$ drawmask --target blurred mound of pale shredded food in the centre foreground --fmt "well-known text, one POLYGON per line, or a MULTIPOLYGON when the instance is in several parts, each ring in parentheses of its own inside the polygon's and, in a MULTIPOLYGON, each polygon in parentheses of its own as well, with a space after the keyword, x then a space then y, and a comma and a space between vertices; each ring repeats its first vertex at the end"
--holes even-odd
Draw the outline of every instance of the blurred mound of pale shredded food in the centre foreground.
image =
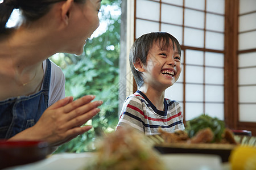
POLYGON ((105 135, 99 141, 96 159, 85 169, 164 170, 166 168, 146 136, 126 127, 105 135))

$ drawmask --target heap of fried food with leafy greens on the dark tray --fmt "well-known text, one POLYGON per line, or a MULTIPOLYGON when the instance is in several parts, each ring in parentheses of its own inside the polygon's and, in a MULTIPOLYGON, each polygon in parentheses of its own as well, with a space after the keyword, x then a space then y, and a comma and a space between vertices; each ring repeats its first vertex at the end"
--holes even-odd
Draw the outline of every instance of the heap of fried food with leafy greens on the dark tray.
POLYGON ((233 131, 225 128, 224 121, 208 115, 200 115, 187 121, 185 130, 168 133, 159 128, 165 143, 227 143, 237 144, 233 131))

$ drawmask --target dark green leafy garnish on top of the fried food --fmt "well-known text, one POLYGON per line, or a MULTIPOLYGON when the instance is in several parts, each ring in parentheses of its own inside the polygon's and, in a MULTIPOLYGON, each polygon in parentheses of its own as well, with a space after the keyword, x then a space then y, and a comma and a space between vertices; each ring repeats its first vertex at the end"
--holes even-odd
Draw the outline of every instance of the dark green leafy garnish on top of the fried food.
POLYGON ((216 117, 201 114, 201 116, 187 121, 187 126, 185 129, 189 138, 192 138, 194 135, 196 135, 197 131, 205 128, 210 128, 213 131, 214 138, 212 142, 216 142, 221 140, 221 135, 225 129, 225 124, 224 121, 218 120, 216 117))

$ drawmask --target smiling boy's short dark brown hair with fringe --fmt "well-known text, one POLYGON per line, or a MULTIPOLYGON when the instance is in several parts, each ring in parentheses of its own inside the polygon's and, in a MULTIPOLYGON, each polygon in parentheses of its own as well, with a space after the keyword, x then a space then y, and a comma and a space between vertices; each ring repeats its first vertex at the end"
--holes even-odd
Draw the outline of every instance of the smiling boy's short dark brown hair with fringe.
POLYGON ((170 47, 175 49, 176 46, 177 51, 181 56, 179 41, 177 41, 174 36, 170 35, 170 33, 151 32, 139 37, 137 40, 135 40, 133 46, 131 46, 129 54, 131 72, 133 73, 134 79, 138 87, 141 87, 143 85, 144 80, 142 73, 134 68, 134 63, 139 60, 142 62, 143 65, 146 65, 147 54, 154 45, 154 43, 156 43, 156 45, 158 45, 162 50, 168 49, 170 47))

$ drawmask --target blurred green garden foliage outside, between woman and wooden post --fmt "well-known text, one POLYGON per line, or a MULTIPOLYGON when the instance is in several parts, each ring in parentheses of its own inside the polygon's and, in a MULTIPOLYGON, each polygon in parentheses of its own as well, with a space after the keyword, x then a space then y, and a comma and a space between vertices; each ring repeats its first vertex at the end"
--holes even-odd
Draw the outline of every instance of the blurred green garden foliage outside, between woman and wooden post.
POLYGON ((53 62, 63 68, 66 77, 66 96, 75 99, 84 95, 95 95, 95 100, 102 100, 100 113, 86 125, 93 129, 61 145, 59 152, 85 152, 94 149, 93 141, 102 133, 115 129, 118 122, 118 58, 120 50, 120 18, 104 12, 109 5, 121 11, 120 1, 102 1, 102 20, 108 23, 106 32, 86 42, 81 56, 56 54, 53 62))

